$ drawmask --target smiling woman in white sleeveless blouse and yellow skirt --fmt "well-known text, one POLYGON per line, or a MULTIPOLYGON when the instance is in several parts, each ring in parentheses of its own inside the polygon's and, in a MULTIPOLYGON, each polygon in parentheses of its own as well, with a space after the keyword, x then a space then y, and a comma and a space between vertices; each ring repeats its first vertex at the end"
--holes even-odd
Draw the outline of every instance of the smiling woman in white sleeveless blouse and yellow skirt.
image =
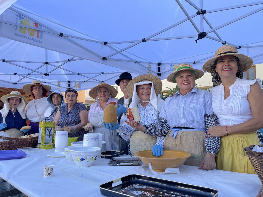
POLYGON ((253 64, 250 57, 238 54, 234 46, 222 46, 215 57, 203 65, 214 82, 213 111, 218 126, 208 128, 208 136, 221 137, 217 169, 255 174, 244 147, 260 144, 263 127, 263 92, 261 81, 244 80, 243 72, 253 64))

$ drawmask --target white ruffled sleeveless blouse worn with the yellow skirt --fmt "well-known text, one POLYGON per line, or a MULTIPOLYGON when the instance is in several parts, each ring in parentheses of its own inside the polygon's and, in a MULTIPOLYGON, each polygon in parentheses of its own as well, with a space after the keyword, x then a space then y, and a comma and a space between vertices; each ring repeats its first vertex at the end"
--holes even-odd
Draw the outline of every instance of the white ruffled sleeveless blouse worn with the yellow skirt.
POLYGON ((250 86, 259 83, 260 79, 245 80, 236 78, 230 89, 230 95, 225 100, 224 86, 222 84, 212 87, 210 92, 213 95, 213 111, 218 117, 219 125, 237 125, 252 118, 247 94, 250 92, 250 86))

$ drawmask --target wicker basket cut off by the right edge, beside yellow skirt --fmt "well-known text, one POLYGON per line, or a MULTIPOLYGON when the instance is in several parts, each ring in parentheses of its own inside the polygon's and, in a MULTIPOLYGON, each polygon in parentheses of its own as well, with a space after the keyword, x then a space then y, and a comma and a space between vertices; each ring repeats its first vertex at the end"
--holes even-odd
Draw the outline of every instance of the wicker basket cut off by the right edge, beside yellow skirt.
MULTIPOLYGON (((255 145, 251 145, 249 147, 245 147, 244 151, 246 152, 248 158, 250 159, 259 180, 263 186, 263 152, 259 153, 256 151, 252 151, 255 145)), ((259 147, 263 147, 263 145, 258 145, 259 147)))

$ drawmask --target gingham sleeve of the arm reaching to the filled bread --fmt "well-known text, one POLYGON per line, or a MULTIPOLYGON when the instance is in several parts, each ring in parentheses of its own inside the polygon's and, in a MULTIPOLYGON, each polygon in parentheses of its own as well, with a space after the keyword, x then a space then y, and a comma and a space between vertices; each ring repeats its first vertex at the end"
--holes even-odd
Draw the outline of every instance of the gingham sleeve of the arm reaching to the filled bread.
POLYGON ((157 123, 152 123, 150 125, 144 125, 145 133, 149 134, 150 136, 154 137, 161 137, 165 136, 169 130, 170 126, 166 119, 159 117, 159 121, 157 123))

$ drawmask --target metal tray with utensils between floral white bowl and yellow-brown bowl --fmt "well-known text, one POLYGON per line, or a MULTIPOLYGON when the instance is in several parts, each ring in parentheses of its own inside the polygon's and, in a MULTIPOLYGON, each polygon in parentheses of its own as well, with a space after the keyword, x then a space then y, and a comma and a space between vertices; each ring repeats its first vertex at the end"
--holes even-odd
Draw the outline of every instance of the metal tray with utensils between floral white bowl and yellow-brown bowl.
POLYGON ((142 165, 138 157, 113 157, 109 160, 110 165, 142 165))

